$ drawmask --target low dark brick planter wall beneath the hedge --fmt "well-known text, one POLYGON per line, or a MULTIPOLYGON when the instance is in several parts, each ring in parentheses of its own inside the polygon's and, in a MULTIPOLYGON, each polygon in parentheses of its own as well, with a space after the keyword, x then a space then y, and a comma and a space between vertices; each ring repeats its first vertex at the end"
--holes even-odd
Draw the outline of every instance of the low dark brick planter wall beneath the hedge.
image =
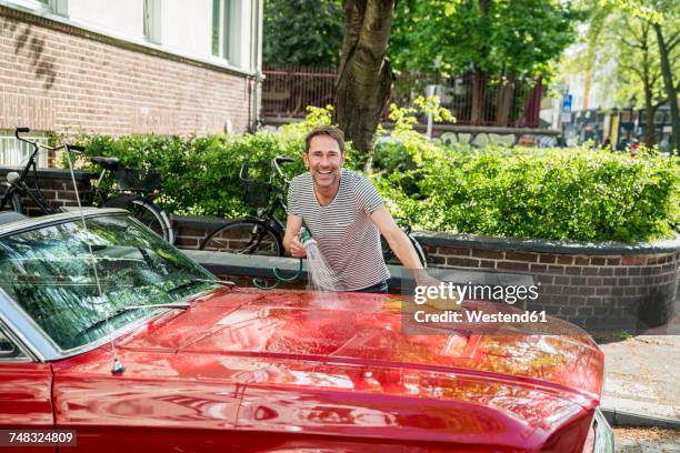
MULTIPOLYGON (((220 223, 177 218, 177 245, 197 249, 220 223)), ((528 310, 546 310, 593 333, 663 324, 680 290, 680 240, 627 245, 420 232, 417 236, 431 268, 532 275, 539 298, 528 303, 528 310)))

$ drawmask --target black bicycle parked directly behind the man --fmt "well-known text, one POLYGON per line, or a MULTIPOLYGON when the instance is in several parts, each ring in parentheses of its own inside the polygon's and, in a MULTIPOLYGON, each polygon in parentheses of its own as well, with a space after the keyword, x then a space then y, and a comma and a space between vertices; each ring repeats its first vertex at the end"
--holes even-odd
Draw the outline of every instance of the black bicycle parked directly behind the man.
MULTIPOLYGON (((273 158, 271 162, 257 162, 258 165, 269 167, 268 181, 249 178, 251 164, 241 165, 239 179, 243 184, 243 198, 247 204, 257 209, 257 215, 236 219, 218 226, 201 242, 200 250, 283 256, 286 251, 282 238, 286 233, 286 223, 279 219, 277 212, 286 212, 284 198, 290 180, 281 170, 281 164, 288 162, 293 162, 293 159, 281 155, 273 158)), ((408 223, 404 223, 404 219, 398 220, 401 222, 400 226, 406 228, 407 238, 413 244, 421 264, 427 268, 426 253, 410 234, 410 222, 407 220, 408 223)), ((384 238, 381 236, 380 240, 386 263, 398 263, 384 238)))

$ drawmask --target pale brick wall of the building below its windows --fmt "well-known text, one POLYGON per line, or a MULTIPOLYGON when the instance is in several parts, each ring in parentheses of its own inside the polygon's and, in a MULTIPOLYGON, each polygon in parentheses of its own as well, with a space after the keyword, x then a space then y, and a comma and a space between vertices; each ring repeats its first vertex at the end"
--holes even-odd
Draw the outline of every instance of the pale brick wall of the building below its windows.
POLYGON ((238 72, 0 7, 0 129, 207 134, 249 124, 238 72))

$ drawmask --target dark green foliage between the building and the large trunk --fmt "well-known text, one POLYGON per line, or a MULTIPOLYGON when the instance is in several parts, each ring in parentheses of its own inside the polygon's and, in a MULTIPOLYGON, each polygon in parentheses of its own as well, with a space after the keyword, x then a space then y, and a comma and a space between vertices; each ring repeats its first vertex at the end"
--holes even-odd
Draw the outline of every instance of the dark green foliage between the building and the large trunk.
POLYGON ((334 68, 341 43, 339 0, 266 0, 266 63, 334 68))

